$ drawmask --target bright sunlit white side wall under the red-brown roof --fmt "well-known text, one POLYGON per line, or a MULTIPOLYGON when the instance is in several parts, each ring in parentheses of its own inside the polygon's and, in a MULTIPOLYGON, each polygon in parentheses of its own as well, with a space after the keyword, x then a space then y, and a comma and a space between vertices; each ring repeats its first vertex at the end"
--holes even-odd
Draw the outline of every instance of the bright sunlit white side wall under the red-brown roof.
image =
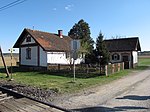
POLYGON ((49 64, 69 64, 65 52, 47 52, 47 63, 49 64))

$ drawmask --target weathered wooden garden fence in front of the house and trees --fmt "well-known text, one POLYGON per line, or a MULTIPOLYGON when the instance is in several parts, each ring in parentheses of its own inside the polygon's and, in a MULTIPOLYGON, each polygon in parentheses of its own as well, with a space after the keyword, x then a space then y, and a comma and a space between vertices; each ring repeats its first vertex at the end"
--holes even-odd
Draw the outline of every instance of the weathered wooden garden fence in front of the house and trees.
MULTIPOLYGON (((63 71, 71 73, 73 70, 73 65, 60 65, 60 64, 49 64, 47 69, 52 72, 63 71)), ((114 63, 106 66, 99 66, 97 64, 79 64, 76 65, 77 74, 100 74, 100 75, 110 75, 116 72, 124 70, 124 63, 114 63), (100 69, 101 67, 101 69, 100 69), (101 71, 100 71, 101 70, 101 71)))

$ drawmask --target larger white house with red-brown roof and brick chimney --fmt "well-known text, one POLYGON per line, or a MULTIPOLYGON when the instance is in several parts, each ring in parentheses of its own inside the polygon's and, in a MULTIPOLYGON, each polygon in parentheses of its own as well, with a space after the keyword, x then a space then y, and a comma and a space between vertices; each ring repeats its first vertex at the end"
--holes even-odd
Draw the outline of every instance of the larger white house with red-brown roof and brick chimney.
MULTIPOLYGON (((24 29, 14 48, 19 48, 20 66, 47 67, 48 64, 71 63, 71 41, 69 36, 24 29)), ((77 43, 78 44, 78 43, 77 43)), ((84 59, 78 58, 79 64, 84 59)))

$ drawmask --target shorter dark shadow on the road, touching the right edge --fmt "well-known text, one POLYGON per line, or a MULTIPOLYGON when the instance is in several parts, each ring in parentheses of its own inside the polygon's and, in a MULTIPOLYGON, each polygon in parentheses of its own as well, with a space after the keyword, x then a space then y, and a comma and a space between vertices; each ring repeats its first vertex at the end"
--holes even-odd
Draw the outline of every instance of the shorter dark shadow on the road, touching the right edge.
POLYGON ((123 96, 123 97, 116 98, 116 99, 148 100, 148 99, 150 99, 150 96, 128 95, 128 96, 123 96))

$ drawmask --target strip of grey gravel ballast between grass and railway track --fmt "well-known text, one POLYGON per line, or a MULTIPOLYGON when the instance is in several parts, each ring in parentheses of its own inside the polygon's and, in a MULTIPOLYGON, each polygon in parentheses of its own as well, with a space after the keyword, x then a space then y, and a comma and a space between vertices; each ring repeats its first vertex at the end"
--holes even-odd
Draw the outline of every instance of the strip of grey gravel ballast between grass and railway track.
POLYGON ((57 96, 54 90, 18 84, 15 81, 1 80, 0 86, 44 102, 51 102, 57 96))

